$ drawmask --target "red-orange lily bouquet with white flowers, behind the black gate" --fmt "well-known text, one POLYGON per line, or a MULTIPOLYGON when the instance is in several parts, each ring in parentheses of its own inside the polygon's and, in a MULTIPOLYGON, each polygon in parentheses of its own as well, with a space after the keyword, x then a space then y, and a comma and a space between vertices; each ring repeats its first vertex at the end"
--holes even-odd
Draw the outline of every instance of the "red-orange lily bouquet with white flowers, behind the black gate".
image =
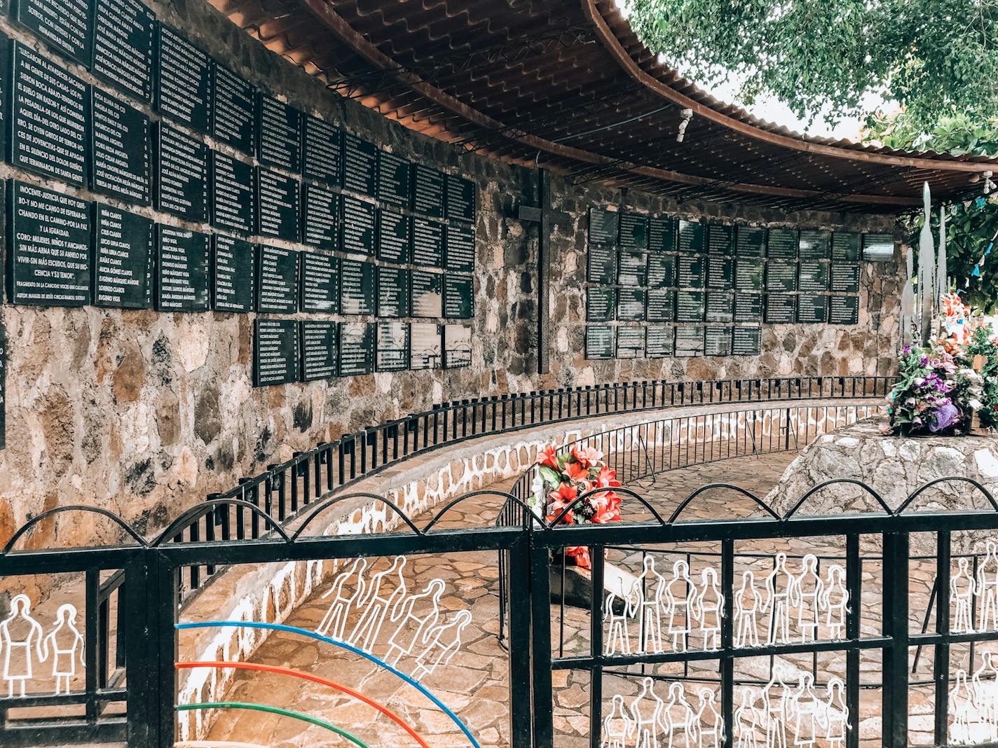
MULTIPOLYGON (((617 471, 606 466, 599 450, 576 445, 559 454, 552 444, 542 449, 537 457, 533 508, 549 523, 557 520, 559 525, 617 522, 621 519, 621 498, 613 489, 620 485, 617 471), (589 492, 594 493, 576 502, 589 492), (565 512, 569 507, 571 509, 565 512)), ((582 568, 592 567, 586 548, 569 547, 565 555, 582 568)))

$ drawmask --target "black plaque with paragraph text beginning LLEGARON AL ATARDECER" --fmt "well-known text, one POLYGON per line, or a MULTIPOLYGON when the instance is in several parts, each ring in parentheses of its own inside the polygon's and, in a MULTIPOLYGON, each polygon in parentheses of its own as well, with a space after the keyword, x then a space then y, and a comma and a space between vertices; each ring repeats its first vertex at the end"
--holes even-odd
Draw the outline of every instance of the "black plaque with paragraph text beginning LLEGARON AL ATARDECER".
POLYGON ((86 84, 20 42, 14 43, 12 82, 11 165, 83 186, 86 84))

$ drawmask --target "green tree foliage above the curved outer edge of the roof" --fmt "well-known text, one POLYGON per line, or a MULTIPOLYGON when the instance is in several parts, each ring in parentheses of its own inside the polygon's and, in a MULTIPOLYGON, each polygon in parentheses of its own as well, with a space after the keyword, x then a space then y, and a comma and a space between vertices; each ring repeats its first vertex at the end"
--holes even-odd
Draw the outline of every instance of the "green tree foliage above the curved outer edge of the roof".
POLYGON ((897 101, 926 130, 940 113, 998 104, 998 0, 629 0, 632 26, 684 75, 742 82, 800 119, 897 101))

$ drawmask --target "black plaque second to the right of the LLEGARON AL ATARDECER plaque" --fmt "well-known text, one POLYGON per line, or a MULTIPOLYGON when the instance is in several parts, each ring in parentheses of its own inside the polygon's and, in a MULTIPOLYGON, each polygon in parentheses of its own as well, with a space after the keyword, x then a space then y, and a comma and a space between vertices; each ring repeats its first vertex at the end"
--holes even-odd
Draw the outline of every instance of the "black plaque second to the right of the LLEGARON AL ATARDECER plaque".
POLYGON ((208 217, 208 147, 166 123, 156 128, 156 207, 201 223, 208 217))

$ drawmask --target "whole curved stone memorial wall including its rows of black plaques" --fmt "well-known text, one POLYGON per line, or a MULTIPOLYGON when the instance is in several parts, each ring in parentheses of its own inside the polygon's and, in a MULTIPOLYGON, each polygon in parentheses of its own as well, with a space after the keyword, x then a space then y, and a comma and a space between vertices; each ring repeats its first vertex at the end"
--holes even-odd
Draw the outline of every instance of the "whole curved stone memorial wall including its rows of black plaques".
MULTIPOLYGON (((727 294, 728 314, 734 293, 738 313, 739 292, 758 291, 740 283, 768 290, 768 274, 740 270, 740 233, 734 256, 715 256, 670 248, 684 234, 661 226, 668 214, 883 233, 890 218, 843 226, 555 177, 565 217, 549 237, 552 371, 539 376, 537 227, 516 217, 537 202, 533 170, 337 96, 204 0, 0 7, 0 540, 73 503, 152 530, 295 450, 434 402, 886 365, 873 339, 896 327, 893 260, 852 262, 856 302, 829 302, 822 323, 726 317, 724 340, 711 294, 727 294), (702 324, 680 325, 701 306, 702 324)), ((794 279, 834 282, 834 254, 815 261, 794 279)), ((90 532, 75 523, 32 543, 90 532)))

